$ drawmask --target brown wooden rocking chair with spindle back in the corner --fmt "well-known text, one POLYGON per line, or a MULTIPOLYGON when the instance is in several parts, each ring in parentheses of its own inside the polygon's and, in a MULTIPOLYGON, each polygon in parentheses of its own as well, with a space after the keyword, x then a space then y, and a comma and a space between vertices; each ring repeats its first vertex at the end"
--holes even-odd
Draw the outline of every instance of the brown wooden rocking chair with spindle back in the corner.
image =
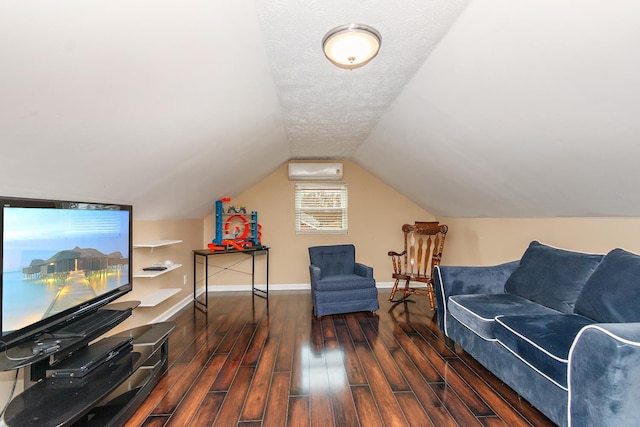
POLYGON ((393 262, 393 278, 396 279, 389 301, 403 301, 411 295, 428 296, 431 309, 435 309, 433 269, 440 265, 447 230, 446 225, 440 225, 437 221, 402 226, 404 251, 389 251, 388 254, 393 262), (401 281, 404 282, 404 289, 400 289, 400 292, 403 292, 404 296, 394 300, 401 281), (412 283, 414 286, 411 286, 412 283), (415 287, 418 284, 422 286, 415 287))

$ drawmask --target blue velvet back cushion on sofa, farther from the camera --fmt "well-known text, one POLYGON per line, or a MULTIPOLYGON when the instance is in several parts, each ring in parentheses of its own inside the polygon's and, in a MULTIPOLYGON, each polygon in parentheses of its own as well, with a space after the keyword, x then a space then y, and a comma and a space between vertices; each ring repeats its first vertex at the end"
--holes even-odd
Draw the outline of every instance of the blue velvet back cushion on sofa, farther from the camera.
POLYGON ((533 241, 507 279, 505 291, 563 313, 573 313, 582 287, 602 257, 533 241))

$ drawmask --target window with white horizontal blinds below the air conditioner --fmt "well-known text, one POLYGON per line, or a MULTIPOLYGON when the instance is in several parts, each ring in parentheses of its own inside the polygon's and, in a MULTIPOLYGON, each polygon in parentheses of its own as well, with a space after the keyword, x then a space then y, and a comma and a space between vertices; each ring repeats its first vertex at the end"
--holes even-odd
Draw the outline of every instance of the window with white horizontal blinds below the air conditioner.
POLYGON ((295 194, 296 233, 347 233, 347 184, 297 183, 295 194))

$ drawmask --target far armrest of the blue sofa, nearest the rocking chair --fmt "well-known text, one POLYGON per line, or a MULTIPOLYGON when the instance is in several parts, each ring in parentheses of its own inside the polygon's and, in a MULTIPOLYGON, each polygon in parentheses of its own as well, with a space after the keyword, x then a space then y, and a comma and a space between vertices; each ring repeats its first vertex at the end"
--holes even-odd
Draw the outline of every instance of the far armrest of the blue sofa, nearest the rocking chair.
POLYGON ((452 295, 502 294, 504 284, 520 264, 520 260, 504 264, 466 267, 436 266, 433 272, 434 288, 438 306, 438 325, 444 331, 447 315, 447 300, 452 295))

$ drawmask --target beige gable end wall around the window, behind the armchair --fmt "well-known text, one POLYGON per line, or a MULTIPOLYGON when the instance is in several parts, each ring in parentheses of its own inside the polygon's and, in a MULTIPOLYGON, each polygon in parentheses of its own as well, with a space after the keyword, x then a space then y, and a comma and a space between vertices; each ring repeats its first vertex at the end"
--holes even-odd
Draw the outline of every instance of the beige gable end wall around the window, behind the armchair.
MULTIPOLYGON (((353 243, 359 262, 374 268, 379 282, 390 282, 391 263, 387 252, 402 249, 404 223, 431 221, 433 215, 350 161, 344 164, 343 182, 348 185, 349 233, 346 235, 299 235, 295 233, 294 182, 289 181, 287 164, 231 200, 248 211, 258 212, 262 225, 262 242, 271 248, 270 283, 308 284, 309 254, 314 245, 353 243)), ((213 203, 213 202, 212 202, 213 203)), ((214 237, 214 216, 205 218, 203 246, 214 237)), ((221 256, 218 263, 223 261, 221 256)), ((257 258, 259 260, 259 258, 257 258)), ((256 267, 263 271, 263 260, 256 267)), ((258 276, 256 276, 257 280, 258 276)), ((211 283, 246 283, 242 275, 220 273, 211 283), (240 281, 240 282, 239 282, 240 281)))

